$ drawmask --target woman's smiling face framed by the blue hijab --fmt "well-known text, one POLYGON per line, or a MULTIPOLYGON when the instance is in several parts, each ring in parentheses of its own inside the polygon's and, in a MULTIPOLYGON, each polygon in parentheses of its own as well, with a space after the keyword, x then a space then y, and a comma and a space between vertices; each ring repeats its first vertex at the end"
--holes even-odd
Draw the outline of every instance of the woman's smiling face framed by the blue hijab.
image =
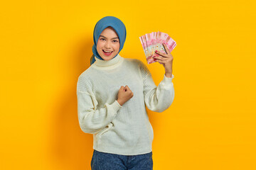
POLYGON ((105 28, 97 40, 97 52, 103 60, 111 60, 119 52, 120 44, 117 33, 112 27, 105 28))

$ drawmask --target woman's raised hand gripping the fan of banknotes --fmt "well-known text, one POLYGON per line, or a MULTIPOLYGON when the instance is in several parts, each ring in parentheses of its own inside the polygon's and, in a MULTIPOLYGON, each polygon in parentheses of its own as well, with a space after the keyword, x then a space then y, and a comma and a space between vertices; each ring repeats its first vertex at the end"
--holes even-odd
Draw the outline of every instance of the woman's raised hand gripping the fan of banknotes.
POLYGON ((172 74, 172 64, 174 61, 174 57, 171 55, 171 52, 168 50, 168 47, 164 45, 164 49, 166 50, 167 54, 164 54, 163 52, 155 51, 156 54, 160 55, 159 57, 154 57, 156 59, 156 62, 159 62, 164 66, 164 69, 166 71, 166 74, 171 75, 172 74))

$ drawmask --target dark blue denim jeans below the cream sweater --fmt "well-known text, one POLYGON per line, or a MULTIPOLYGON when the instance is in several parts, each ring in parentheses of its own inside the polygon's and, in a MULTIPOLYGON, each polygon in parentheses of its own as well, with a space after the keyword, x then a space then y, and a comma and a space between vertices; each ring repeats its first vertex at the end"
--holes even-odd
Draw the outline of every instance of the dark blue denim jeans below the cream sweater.
POLYGON ((92 170, 153 170, 152 152, 138 155, 121 155, 99 152, 94 149, 92 170))

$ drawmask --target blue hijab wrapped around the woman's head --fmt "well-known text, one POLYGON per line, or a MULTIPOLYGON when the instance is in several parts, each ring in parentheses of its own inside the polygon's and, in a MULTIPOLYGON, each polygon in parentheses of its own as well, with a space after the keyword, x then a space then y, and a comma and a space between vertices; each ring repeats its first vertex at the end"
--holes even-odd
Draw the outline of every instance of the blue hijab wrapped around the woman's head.
MULTIPOLYGON (((102 59, 102 57, 100 57, 99 53, 97 52, 97 40, 100 37, 100 33, 102 33, 102 31, 105 30, 105 28, 107 28, 109 26, 114 28, 114 30, 117 32, 117 35, 119 38, 119 43, 120 43, 119 52, 124 47, 124 42, 125 42, 126 35, 127 35, 124 23, 121 20, 119 20, 119 18, 116 18, 114 16, 105 16, 104 18, 101 18, 100 21, 97 21, 95 28, 93 30, 94 45, 92 45, 93 55, 90 58, 91 65, 95 62, 95 57, 97 57, 100 60, 104 60, 104 59, 102 59)), ((119 52, 117 53, 117 55, 119 54, 119 52)), ((114 57, 117 57, 117 55, 114 57)))

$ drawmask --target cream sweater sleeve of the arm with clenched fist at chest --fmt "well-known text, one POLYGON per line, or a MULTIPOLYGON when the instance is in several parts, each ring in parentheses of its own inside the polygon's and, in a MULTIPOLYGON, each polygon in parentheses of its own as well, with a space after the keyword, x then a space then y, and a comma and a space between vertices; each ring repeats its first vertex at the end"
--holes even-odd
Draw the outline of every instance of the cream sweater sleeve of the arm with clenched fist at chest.
POLYGON ((105 103, 104 108, 97 108, 95 95, 86 86, 82 79, 78 79, 78 120, 83 132, 95 134, 112 122, 122 106, 115 100, 113 103, 105 103))

